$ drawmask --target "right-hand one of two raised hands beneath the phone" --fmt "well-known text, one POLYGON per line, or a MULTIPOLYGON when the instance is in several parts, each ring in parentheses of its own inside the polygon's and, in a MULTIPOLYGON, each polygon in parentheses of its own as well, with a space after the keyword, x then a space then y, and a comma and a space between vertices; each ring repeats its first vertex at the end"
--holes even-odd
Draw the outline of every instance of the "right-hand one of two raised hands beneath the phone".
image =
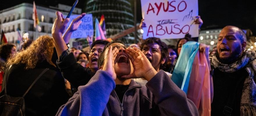
POLYGON ((79 25, 82 23, 81 19, 85 16, 86 13, 80 14, 77 18, 72 20, 70 26, 67 28, 68 31, 73 32, 78 29, 79 25))

